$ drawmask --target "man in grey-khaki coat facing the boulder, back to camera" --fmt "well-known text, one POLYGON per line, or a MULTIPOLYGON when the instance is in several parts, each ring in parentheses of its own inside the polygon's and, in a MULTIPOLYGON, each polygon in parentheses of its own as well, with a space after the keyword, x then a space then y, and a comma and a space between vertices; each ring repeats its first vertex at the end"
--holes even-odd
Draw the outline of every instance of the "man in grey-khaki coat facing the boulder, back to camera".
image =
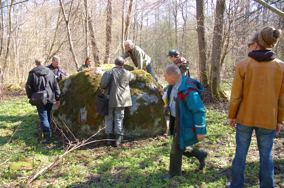
POLYGON ((110 96, 108 96, 108 115, 105 116, 105 133, 108 145, 111 145, 111 134, 113 133, 112 127, 114 122, 114 132, 116 133, 116 143, 118 146, 121 144, 123 135, 123 118, 125 107, 131 106, 131 96, 129 89, 129 82, 133 82, 136 79, 136 75, 132 74, 128 70, 123 68, 124 60, 122 57, 117 57, 115 60, 115 67, 107 70, 99 83, 101 89, 105 89, 105 93, 108 93, 110 89, 110 96), (113 80, 111 87, 109 87, 110 77, 113 73, 113 80))

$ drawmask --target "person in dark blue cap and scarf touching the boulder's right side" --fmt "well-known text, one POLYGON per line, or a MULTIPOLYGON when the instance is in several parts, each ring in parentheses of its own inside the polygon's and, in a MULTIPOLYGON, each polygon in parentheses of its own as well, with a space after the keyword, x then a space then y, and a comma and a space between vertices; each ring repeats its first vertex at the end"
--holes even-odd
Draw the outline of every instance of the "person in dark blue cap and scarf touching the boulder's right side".
MULTIPOLYGON (((190 66, 188 60, 186 60, 184 57, 179 56, 179 51, 178 50, 170 50, 167 55, 171 61, 175 65, 179 67, 179 70, 182 75, 190 77, 190 66)), ((165 92, 168 87, 158 89, 160 93, 165 92)))

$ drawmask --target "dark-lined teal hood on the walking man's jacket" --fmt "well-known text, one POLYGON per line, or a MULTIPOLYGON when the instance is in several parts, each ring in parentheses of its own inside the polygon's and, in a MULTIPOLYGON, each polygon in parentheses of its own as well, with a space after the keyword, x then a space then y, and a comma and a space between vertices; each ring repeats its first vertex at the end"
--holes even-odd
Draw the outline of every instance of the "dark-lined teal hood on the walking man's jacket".
POLYGON ((179 91, 183 91, 184 93, 187 93, 188 92, 187 89, 190 87, 194 88, 199 94, 199 96, 202 95, 203 90, 204 90, 202 84, 193 78, 182 75, 182 84, 179 87, 179 91))

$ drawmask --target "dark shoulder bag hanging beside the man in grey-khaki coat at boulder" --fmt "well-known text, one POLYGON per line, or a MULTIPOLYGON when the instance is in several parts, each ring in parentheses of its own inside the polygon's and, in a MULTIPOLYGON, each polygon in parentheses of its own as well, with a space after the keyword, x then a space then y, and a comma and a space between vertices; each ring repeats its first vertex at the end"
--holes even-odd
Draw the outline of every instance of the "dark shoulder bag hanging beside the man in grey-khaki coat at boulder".
MULTIPOLYGON (((111 69, 112 70, 112 69, 111 69)), ((97 112, 102 115, 108 115, 108 103, 109 99, 108 97, 110 96, 110 91, 111 91, 111 82, 113 80, 113 70, 111 71, 111 77, 109 81, 109 90, 107 91, 107 97, 103 93, 97 95, 97 112)))

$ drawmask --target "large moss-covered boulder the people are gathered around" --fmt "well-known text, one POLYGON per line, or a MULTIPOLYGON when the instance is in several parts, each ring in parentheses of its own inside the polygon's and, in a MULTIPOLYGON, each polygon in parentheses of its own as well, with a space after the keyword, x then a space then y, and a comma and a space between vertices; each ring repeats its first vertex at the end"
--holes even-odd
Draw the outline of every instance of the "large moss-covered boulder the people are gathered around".
MULTIPOLYGON (((77 136, 88 137, 105 127, 104 116, 96 111, 96 96, 101 92, 99 82, 104 71, 114 64, 88 68, 59 82, 61 91, 60 106, 54 105, 52 116, 54 122, 62 129, 67 129, 77 136), (66 125, 66 126, 65 126, 66 125)), ((124 66, 127 70, 133 67, 124 66)), ((142 138, 163 134, 167 130, 163 111, 160 88, 151 74, 144 70, 132 71, 137 76, 130 84, 132 106, 125 108, 124 138, 142 138)), ((96 138, 105 137, 105 130, 96 138)))

